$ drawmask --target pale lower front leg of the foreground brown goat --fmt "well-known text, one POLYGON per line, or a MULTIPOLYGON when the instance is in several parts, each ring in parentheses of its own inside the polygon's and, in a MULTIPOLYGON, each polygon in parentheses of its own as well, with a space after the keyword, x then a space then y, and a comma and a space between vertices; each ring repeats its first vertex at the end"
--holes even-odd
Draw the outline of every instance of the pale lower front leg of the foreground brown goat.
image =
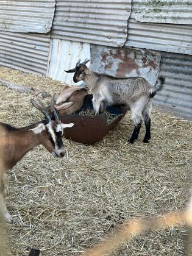
POLYGON ((2 218, 5 222, 9 224, 13 224, 13 218, 7 211, 7 207, 5 205, 5 196, 7 194, 7 191, 4 187, 4 183, 2 180, 0 180, 0 214, 2 215, 2 218))

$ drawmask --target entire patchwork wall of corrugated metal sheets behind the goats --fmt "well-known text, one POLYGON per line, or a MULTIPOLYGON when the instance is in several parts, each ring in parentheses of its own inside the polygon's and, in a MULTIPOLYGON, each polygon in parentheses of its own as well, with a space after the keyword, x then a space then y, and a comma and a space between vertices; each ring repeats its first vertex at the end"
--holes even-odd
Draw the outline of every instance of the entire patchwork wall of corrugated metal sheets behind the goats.
POLYGON ((151 84, 160 70, 166 82, 156 104, 192 118, 191 1, 0 2, 0 65, 48 74, 67 84, 73 84, 73 74, 64 69, 90 57, 96 71, 117 77, 143 76, 151 84), (50 29, 51 40, 49 35, 27 33, 50 29))

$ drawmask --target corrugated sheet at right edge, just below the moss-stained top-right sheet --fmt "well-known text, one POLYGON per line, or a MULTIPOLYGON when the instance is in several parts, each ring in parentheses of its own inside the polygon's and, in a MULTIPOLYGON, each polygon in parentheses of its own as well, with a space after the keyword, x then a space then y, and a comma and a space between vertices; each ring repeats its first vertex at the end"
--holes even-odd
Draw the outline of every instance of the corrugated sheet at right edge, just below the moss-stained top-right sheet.
POLYGON ((128 21, 126 46, 192 54, 192 25, 128 21))

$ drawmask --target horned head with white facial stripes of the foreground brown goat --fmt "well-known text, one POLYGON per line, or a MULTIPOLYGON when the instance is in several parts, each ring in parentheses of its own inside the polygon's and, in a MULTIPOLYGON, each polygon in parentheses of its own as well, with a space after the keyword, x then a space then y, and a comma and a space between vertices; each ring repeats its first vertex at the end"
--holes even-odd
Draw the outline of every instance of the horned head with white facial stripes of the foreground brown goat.
POLYGON ((54 113, 54 118, 51 118, 43 102, 39 99, 38 102, 32 99, 31 102, 45 116, 45 121, 42 121, 37 127, 31 130, 39 135, 40 144, 43 144, 54 157, 63 157, 65 155, 62 141, 63 129, 73 127, 74 124, 62 124, 59 120, 59 116, 54 108, 54 95, 52 95, 51 100, 51 109, 54 113))

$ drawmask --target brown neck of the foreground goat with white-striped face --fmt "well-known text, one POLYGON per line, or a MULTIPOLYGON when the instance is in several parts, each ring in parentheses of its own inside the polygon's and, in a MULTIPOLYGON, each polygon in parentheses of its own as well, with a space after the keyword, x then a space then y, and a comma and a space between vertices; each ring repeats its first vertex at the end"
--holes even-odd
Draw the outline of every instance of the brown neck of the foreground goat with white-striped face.
POLYGON ((6 170, 16 165, 27 152, 40 144, 39 135, 29 131, 38 124, 39 123, 32 124, 5 133, 6 137, 2 138, 1 141, 4 141, 4 143, 1 143, 1 146, 4 147, 2 150, 4 152, 4 165, 6 170))

